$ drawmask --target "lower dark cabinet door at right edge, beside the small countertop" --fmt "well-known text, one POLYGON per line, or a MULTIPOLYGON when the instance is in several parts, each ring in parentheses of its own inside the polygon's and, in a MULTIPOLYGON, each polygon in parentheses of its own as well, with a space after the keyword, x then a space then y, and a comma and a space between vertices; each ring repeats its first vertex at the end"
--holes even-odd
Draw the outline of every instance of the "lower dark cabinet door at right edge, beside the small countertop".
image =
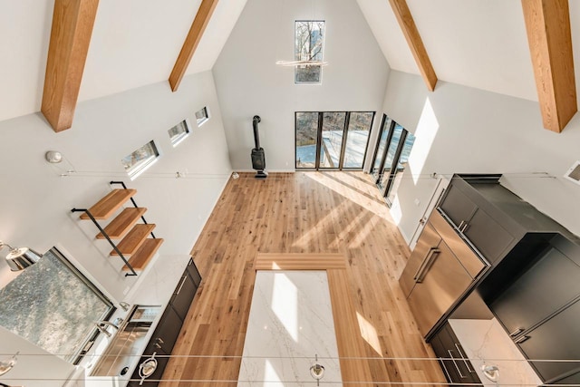
POLYGON ((580 359, 580 300, 516 340, 523 353, 545 382, 575 371, 578 362, 534 362, 535 359, 580 359))

